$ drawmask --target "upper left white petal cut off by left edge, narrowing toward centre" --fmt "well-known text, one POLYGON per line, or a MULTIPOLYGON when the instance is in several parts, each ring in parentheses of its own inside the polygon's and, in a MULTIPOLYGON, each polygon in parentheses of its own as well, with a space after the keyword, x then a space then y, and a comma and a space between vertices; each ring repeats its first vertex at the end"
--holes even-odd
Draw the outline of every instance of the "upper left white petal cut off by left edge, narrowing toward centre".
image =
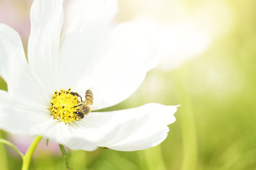
POLYGON ((29 107, 46 107, 47 97, 31 74, 19 34, 4 24, 0 24, 0 76, 13 99, 29 107))

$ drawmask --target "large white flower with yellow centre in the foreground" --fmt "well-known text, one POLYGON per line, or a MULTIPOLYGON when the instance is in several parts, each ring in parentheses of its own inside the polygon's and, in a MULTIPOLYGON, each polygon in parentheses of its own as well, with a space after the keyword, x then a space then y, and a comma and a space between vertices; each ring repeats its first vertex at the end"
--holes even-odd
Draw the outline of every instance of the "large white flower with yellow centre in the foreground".
POLYGON ((67 4, 65 27, 62 4, 63 0, 33 3, 28 62, 19 34, 0 24, 0 75, 8 84, 8 92, 0 90, 0 128, 40 135, 74 150, 105 146, 132 151, 161 143, 167 125, 175 121, 177 106, 151 103, 129 110, 95 111, 81 120, 71 113, 74 108, 60 108, 79 103, 69 87, 82 97, 92 90, 91 110, 120 103, 157 64, 147 34, 137 31, 132 22, 111 25, 118 10, 115 0, 67 4), (66 93, 59 99, 55 91, 66 93))

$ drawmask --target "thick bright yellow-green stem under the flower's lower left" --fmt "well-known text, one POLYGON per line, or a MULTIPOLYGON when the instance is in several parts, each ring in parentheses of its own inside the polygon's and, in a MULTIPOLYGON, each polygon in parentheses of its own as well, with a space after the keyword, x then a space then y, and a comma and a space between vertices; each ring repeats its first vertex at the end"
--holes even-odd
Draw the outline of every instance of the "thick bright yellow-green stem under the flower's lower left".
POLYGON ((22 170, 28 170, 31 157, 36 149, 36 146, 38 145, 39 141, 42 139, 42 136, 37 136, 33 143, 28 148, 28 151, 23 157, 23 164, 22 164, 22 170))

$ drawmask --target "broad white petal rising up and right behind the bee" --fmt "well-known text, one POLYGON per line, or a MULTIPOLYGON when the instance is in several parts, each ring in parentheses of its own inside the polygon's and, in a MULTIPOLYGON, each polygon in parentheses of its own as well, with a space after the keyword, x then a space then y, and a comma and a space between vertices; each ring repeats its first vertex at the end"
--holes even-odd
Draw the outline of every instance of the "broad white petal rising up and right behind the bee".
MULTIPOLYGON (((89 28, 93 30, 93 25, 89 28)), ((97 31, 99 35, 96 32, 92 34, 93 31, 78 34, 76 38, 80 35, 81 39, 77 43, 76 38, 73 41, 69 39, 65 47, 61 47, 61 58, 65 56, 61 62, 65 63, 61 71, 65 73, 61 76, 63 86, 68 88, 69 82, 70 87, 74 87, 81 95, 87 89, 92 89, 93 109, 113 106, 131 96, 144 80, 147 71, 158 63, 148 34, 139 30, 136 24, 127 22, 116 26, 111 32, 97 31), (93 40, 93 36, 99 40, 93 40), (94 46, 90 45, 91 42, 94 46), (93 50, 84 47, 86 45, 92 46, 93 50), (74 63, 72 59, 67 59, 68 55, 74 63)))

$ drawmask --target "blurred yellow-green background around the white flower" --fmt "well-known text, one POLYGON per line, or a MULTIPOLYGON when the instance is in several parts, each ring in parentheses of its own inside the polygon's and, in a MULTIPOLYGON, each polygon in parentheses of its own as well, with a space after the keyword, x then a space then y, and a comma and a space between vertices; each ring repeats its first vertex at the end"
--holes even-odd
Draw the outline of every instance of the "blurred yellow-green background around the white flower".
MULTIPOLYGON (((31 1, 10 2, 0 0, 0 8, 8 6, 11 10, 6 11, 22 15, 6 15, 4 20, 2 10, 1 22, 15 27, 26 45, 28 33, 22 29, 29 20, 31 1), (24 19, 20 23, 22 29, 14 21, 8 23, 15 17, 24 19)), ((211 20, 218 15, 218 12, 212 13, 209 23, 220 30, 202 53, 176 69, 153 69, 129 99, 108 109, 132 108, 145 103, 181 104, 175 114, 177 121, 170 125, 168 138, 161 145, 138 152, 102 148, 95 152, 69 151, 71 169, 256 169, 256 1, 186 0, 182 1, 181 11, 172 7, 174 1, 159 1, 159 6, 148 6, 151 2, 120 1, 122 12, 117 19, 129 20, 146 11, 169 20, 173 19, 173 10, 179 14, 175 18, 180 19, 189 17, 205 2, 225 3, 231 17, 219 23, 221 16, 211 20), (172 7, 170 13, 169 7, 172 7), (227 25, 232 26, 227 30, 227 25)), ((216 9, 218 11, 218 4, 216 9)), ((3 80, 0 89, 6 90, 3 80)), ((8 139, 9 135, 2 131, 1 138, 8 139)), ((41 143, 44 145, 45 141, 41 143)), ((51 145, 44 150, 36 148, 31 169, 65 169, 60 150, 48 150, 51 145)), ((20 157, 11 148, 0 145, 0 169, 20 169, 21 164, 20 157)))

